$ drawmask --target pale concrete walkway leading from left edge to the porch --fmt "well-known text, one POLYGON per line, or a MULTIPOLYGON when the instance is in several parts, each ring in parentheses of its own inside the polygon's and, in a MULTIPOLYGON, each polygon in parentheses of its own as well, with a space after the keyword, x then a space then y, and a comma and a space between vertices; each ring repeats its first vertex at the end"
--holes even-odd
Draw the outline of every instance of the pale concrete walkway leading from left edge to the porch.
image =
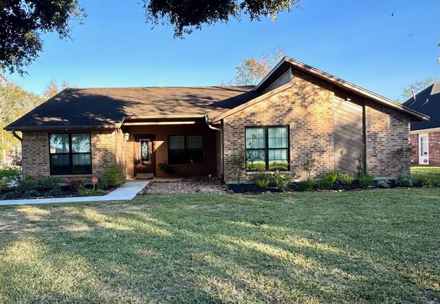
POLYGON ((0 200, 1 205, 28 205, 28 204, 59 204, 77 202, 106 202, 129 201, 133 199, 149 182, 126 182, 122 187, 102 196, 84 197, 54 197, 52 199, 5 199, 0 200))

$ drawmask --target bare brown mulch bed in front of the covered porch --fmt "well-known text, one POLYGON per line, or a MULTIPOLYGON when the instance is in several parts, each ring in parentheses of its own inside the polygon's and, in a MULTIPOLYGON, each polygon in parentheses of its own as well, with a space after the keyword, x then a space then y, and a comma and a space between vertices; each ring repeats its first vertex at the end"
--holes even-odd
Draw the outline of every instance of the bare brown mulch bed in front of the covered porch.
POLYGON ((150 182, 140 195, 145 194, 184 194, 184 193, 228 193, 228 186, 220 180, 196 179, 175 182, 150 182))

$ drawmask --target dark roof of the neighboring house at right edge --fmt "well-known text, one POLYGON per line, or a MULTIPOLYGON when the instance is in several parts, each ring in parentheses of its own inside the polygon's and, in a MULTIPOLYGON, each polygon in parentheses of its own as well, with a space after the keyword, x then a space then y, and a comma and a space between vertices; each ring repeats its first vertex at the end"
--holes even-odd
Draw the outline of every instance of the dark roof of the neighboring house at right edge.
POLYGON ((403 105, 430 116, 428 121, 411 122, 411 131, 440 127, 440 83, 430 85, 403 105))

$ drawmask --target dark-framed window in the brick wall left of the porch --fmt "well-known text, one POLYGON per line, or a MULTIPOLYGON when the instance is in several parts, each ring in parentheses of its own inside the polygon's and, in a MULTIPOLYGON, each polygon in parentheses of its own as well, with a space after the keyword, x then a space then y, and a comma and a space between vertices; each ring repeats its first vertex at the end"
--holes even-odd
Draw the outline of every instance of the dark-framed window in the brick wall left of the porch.
POLYGON ((49 134, 50 174, 91 174, 90 133, 49 134))

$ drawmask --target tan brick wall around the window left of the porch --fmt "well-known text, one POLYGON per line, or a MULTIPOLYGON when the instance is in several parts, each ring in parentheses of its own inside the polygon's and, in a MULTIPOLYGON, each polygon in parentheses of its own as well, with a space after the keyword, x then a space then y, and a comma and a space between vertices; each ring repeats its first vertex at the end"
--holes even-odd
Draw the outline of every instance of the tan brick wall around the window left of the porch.
MULTIPOLYGON (((90 131, 91 135, 91 163, 92 175, 100 175, 104 169, 116 164, 115 153, 116 135, 118 135, 119 150, 122 149, 120 133, 114 130, 90 131)), ((49 133, 48 132, 23 132, 22 166, 23 177, 49 177, 49 133)), ((123 152, 125 155, 125 151, 123 152)), ((123 158, 124 159, 124 158, 123 158)), ((121 162, 120 164, 124 164, 121 162)), ((63 177, 91 175, 63 175, 63 177)))

